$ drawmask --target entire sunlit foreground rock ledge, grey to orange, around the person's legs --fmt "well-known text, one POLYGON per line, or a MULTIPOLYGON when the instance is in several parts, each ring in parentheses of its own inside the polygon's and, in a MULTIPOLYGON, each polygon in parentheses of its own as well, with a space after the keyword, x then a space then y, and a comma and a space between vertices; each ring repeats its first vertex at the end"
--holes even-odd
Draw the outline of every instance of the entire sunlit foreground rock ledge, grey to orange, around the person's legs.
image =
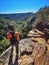
POLYGON ((38 36, 22 39, 19 43, 18 59, 14 47, 12 62, 9 64, 10 55, 11 47, 0 56, 0 65, 49 65, 49 44, 38 36))

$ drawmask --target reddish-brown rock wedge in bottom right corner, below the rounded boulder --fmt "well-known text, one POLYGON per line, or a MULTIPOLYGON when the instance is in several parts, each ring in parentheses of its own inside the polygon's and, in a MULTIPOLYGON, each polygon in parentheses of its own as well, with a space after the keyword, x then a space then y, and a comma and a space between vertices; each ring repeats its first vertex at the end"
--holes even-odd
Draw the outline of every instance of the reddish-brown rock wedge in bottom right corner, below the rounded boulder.
POLYGON ((49 65, 49 51, 46 51, 40 58, 36 58, 35 65, 49 65))

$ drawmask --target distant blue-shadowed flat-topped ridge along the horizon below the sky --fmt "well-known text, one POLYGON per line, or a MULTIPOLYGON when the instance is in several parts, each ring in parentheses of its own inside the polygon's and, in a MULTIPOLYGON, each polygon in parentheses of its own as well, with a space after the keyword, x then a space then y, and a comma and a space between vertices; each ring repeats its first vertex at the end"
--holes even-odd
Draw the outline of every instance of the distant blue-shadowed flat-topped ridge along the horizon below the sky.
POLYGON ((0 18, 10 19, 10 20, 26 20, 30 16, 34 15, 32 12, 28 13, 13 13, 13 14, 0 14, 0 18))

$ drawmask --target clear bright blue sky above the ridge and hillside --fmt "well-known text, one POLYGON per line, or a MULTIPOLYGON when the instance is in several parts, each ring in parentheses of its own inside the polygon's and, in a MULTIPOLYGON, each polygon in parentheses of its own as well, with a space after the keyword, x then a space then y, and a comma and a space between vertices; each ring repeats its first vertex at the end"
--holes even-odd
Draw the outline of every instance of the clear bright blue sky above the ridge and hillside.
POLYGON ((0 13, 37 12, 49 6, 49 0, 0 0, 0 13))

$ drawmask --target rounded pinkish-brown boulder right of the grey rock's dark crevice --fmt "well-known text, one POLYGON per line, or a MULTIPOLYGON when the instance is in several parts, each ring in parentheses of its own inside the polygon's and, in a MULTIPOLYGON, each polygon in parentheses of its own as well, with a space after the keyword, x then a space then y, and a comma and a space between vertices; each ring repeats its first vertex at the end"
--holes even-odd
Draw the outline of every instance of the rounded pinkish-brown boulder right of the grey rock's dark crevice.
POLYGON ((33 49, 33 55, 35 57, 40 57, 41 55, 43 55, 46 51, 46 46, 43 43, 36 43, 34 45, 34 49, 33 49))

